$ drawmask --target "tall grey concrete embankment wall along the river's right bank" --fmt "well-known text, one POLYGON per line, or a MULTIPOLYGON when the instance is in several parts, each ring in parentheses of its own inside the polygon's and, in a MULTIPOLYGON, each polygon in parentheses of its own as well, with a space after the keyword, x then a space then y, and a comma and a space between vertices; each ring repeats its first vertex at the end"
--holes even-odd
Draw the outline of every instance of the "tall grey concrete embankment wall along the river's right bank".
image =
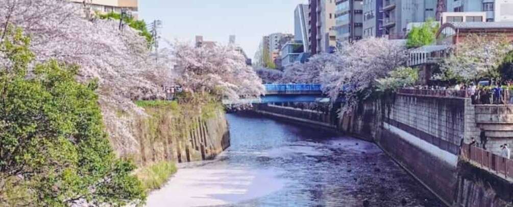
MULTIPOLYGON (((272 108, 259 110, 286 115, 284 118, 312 116, 306 110, 272 108)), ((447 205, 452 205, 457 203, 459 192, 460 142, 479 135, 474 114, 467 99, 396 95, 390 100, 365 101, 330 124, 377 143, 447 205)))

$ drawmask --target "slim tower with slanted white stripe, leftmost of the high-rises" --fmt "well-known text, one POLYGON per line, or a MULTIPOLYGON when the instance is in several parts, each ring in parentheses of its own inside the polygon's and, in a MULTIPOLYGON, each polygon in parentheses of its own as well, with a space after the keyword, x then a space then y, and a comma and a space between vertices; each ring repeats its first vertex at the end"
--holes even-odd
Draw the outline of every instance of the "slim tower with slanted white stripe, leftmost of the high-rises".
POLYGON ((299 4, 294 10, 294 41, 301 41, 308 49, 308 5, 299 4))

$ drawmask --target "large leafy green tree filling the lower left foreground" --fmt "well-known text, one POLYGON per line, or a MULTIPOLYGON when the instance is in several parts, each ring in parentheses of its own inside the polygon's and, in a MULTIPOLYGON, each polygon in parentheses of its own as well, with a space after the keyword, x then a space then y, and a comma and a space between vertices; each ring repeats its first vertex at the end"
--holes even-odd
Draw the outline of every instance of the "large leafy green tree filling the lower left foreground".
POLYGON ((144 202, 135 165, 116 158, 104 132, 96 81, 78 83, 77 66, 35 64, 21 29, 0 34, 0 203, 144 202))

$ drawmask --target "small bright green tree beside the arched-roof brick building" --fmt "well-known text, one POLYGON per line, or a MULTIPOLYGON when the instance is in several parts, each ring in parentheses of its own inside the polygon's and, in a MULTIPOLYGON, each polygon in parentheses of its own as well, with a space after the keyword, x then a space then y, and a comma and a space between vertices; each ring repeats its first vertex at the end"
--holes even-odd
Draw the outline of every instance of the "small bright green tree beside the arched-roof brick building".
POLYGON ((433 21, 432 18, 429 18, 420 27, 413 27, 408 33, 406 47, 413 48, 435 43, 435 34, 437 33, 439 27, 439 24, 433 21))

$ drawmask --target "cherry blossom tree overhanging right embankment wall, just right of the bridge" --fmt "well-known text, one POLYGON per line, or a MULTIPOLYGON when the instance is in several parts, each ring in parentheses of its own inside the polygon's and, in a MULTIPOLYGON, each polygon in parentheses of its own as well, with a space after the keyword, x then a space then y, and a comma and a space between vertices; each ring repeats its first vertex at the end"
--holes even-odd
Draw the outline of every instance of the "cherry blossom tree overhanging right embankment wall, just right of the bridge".
POLYGON ((321 71, 323 90, 332 100, 343 96, 344 110, 352 109, 371 92, 376 79, 405 64, 404 46, 381 38, 368 38, 345 45, 340 60, 321 71))

